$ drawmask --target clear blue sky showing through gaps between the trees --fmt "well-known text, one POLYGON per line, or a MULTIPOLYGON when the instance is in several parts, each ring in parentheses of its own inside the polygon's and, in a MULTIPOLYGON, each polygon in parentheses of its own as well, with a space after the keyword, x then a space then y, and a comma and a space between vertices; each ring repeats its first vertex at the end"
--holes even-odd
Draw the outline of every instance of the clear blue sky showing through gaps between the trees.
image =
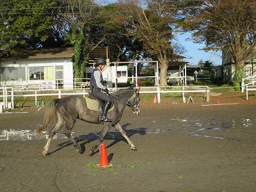
MULTIPOLYGON (((106 0, 105 2, 104 4, 115 3, 116 0, 106 0)), ((221 65, 221 52, 202 51, 200 49, 204 47, 204 44, 195 44, 186 40, 189 37, 190 33, 177 35, 177 41, 186 49, 184 61, 189 62, 191 65, 198 65, 198 61, 202 59, 203 61, 211 61, 215 66, 221 65)))

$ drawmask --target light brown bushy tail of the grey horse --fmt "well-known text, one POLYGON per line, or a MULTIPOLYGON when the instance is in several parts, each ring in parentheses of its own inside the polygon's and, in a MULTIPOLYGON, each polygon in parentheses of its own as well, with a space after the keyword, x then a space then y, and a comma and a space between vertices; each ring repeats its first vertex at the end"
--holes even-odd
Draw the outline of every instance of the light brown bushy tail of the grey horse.
POLYGON ((42 137, 42 131, 46 129, 46 127, 51 123, 52 118, 56 115, 56 104, 60 99, 54 99, 52 102, 49 104, 48 108, 45 111, 44 115, 44 125, 42 127, 36 129, 36 133, 42 137))

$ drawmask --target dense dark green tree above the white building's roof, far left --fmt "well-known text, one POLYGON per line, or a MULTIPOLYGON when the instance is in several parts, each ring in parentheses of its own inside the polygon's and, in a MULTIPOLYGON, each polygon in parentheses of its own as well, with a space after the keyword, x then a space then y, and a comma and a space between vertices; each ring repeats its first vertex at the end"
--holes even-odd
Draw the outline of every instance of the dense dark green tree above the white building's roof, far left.
POLYGON ((0 49, 5 54, 19 54, 23 49, 42 47, 52 38, 54 17, 50 0, 1 1, 0 49))

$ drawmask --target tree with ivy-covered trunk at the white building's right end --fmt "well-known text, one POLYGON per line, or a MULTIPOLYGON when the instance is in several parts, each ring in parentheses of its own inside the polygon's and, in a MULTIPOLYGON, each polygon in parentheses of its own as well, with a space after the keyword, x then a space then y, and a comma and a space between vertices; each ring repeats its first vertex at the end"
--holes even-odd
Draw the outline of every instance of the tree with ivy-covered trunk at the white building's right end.
POLYGON ((99 35, 103 26, 99 6, 91 0, 58 0, 58 4, 65 40, 74 47, 74 77, 83 78, 89 52, 104 40, 99 35))

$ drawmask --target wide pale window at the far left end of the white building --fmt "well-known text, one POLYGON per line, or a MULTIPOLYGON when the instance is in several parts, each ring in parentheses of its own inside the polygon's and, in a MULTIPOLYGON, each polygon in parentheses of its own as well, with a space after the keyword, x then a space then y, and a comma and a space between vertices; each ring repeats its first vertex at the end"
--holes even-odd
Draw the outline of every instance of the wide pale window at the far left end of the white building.
POLYGON ((25 67, 5 67, 0 68, 0 80, 19 80, 26 78, 25 67))

